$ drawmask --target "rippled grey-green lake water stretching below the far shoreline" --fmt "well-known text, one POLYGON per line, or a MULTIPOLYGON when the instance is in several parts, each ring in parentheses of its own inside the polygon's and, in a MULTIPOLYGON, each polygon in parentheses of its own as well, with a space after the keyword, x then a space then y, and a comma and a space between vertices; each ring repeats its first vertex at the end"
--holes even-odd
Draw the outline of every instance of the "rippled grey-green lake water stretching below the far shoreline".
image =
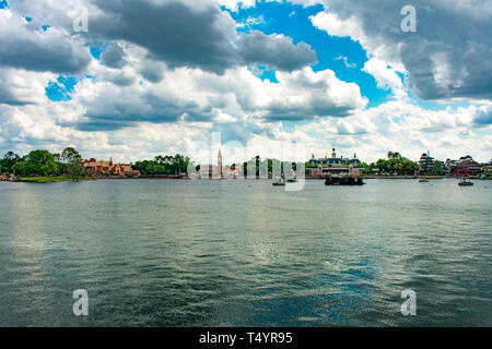
POLYGON ((0 325, 491 326, 492 184, 0 183, 0 325), (72 314, 86 289, 89 316, 72 314), (401 291, 417 292, 403 316, 401 291))

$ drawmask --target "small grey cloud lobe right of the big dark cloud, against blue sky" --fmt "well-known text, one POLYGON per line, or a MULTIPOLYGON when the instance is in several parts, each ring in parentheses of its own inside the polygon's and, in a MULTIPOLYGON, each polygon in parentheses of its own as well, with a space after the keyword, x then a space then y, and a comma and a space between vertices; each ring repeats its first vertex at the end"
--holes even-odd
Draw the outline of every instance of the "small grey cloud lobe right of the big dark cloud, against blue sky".
POLYGON ((253 31, 239 38, 241 56, 246 64, 294 71, 316 63, 316 52, 305 43, 294 45, 292 38, 253 31))

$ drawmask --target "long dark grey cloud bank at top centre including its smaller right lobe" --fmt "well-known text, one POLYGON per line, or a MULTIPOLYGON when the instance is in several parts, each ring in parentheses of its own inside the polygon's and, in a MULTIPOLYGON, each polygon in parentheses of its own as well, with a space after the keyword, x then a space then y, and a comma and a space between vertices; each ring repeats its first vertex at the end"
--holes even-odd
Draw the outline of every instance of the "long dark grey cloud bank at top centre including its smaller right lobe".
MULTIPOLYGON (((197 5, 172 0, 107 0, 94 4, 102 14, 91 17, 93 38, 133 43, 171 68, 200 68, 222 74, 239 64, 293 71, 316 63, 316 53, 307 44, 294 45, 285 36, 254 31, 243 34, 236 44, 236 23, 213 1, 197 5)), ((151 81, 159 79, 159 74, 145 73, 151 81)))

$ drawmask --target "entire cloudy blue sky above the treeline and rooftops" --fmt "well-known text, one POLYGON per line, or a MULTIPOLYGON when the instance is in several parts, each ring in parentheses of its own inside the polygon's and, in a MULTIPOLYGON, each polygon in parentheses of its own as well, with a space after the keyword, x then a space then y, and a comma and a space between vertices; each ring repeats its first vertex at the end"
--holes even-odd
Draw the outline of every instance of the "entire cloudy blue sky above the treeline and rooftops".
POLYGON ((491 20, 492 0, 0 0, 0 153, 489 161, 491 20))

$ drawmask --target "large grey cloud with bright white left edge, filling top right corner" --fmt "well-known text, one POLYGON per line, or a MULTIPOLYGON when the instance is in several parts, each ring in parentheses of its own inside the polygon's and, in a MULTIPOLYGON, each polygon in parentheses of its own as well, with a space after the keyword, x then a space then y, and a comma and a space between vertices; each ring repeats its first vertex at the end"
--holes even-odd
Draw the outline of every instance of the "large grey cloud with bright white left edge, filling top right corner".
POLYGON ((396 0, 323 0, 313 24, 336 36, 350 36, 367 52, 398 71, 425 99, 492 97, 492 3, 431 0, 417 3, 417 32, 403 33, 396 0))

